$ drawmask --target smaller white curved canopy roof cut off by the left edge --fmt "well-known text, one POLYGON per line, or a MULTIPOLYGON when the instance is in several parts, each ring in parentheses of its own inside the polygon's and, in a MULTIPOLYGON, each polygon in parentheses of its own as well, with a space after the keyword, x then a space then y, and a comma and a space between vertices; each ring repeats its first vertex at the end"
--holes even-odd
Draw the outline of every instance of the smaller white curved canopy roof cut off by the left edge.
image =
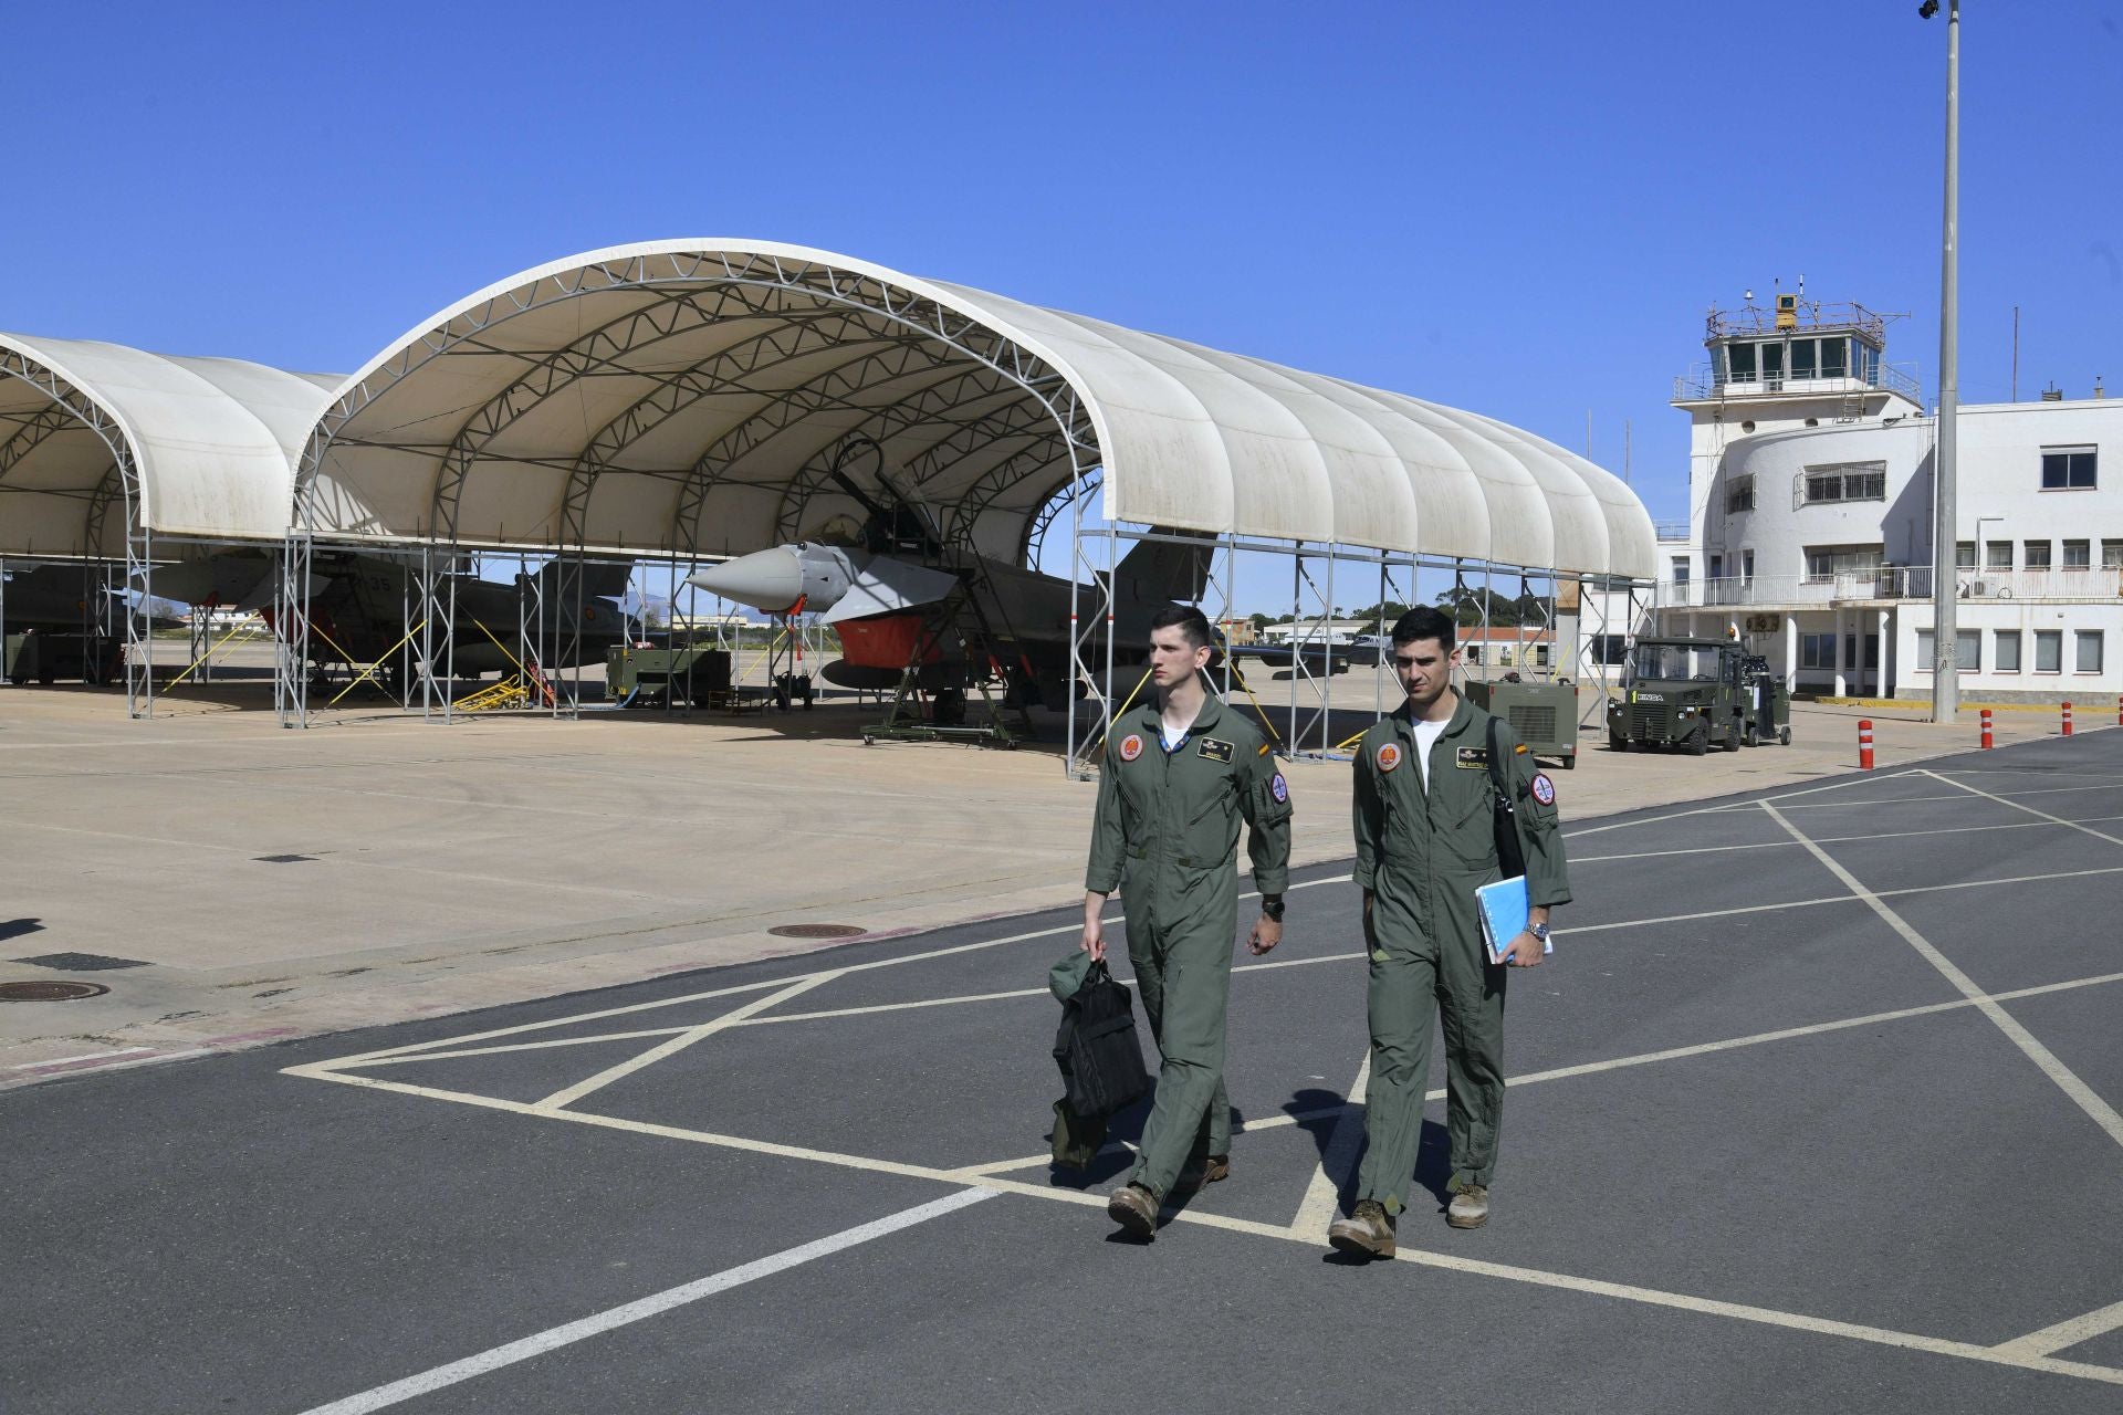
POLYGON ((0 333, 0 556, 125 554, 157 535, 287 535, 335 375, 0 333))

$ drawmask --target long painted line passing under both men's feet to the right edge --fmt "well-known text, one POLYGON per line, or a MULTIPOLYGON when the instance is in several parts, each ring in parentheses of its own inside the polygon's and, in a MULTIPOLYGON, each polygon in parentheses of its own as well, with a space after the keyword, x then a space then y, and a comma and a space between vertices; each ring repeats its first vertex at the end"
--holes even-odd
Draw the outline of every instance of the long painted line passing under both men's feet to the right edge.
MULTIPOLYGON (((293 1071, 293 1067, 291 1067, 293 1071)), ((463 1105, 478 1105, 484 1110, 503 1110, 518 1116, 535 1116, 541 1120, 567 1120, 571 1124, 592 1124, 614 1131, 631 1131, 637 1135, 658 1135, 667 1139, 684 1139, 692 1143, 720 1146, 728 1150, 747 1150, 754 1154, 775 1154, 783 1158, 817 1160, 826 1165, 841 1165, 847 1169, 864 1169, 877 1173, 898 1173, 917 1180, 938 1180, 943 1184, 968 1184, 987 1190, 998 1190, 1004 1194, 1025 1194, 1030 1199, 1045 1199, 1049 1203, 1072 1203, 1081 1207, 1104 1207, 1104 1194, 1072 1188, 1049 1188, 1040 1184, 1023 1184, 1019 1180, 1002 1180, 996 1175, 968 1175, 949 1169, 928 1169, 924 1165, 900 1165, 894 1160, 877 1160, 860 1154, 832 1154, 824 1150, 802 1150, 798 1146, 777 1146, 769 1141, 741 1139, 735 1135, 711 1135, 705 1131, 686 1131, 681 1126, 669 1124, 648 1124, 641 1120, 622 1120, 618 1116, 597 1116, 580 1110, 535 1110, 520 1101, 501 1101, 495 1097, 465 1095, 454 1090, 433 1090, 429 1086, 405 1086, 399 1082, 384 1082, 369 1076, 340 1076, 333 1071, 308 1071, 314 1080, 331 1080, 346 1086, 365 1086, 374 1090, 397 1090, 403 1095, 420 1095, 437 1101, 456 1101, 463 1105)), ((1202 1209, 1180 1209, 1174 1213, 1174 1222, 1180 1224, 1204 1224, 1208 1228, 1225 1228, 1231 1233, 1250 1233, 1257 1237, 1278 1239, 1284 1243, 1297 1241, 1306 1245, 1318 1243, 1314 1235, 1297 1235, 1289 1228, 1278 1228, 1274 1224, 1257 1224, 1242 1218, 1225 1218, 1221 1213, 1208 1213, 1202 1209)), ((1546 1288, 1565 1288, 1573 1292, 1584 1292, 1592 1296, 1611 1296, 1628 1303, 1643 1303, 1652 1307, 1675 1307, 1681 1311, 1694 1311, 1703 1315, 1734 1317, 1741 1322, 1760 1322, 1766 1326, 1783 1326, 1828 1337, 1847 1337, 1853 1341, 1866 1341, 1872 1345, 1902 1347, 1913 1351, 1930 1351, 1936 1356, 1957 1356, 1964 1360, 1979 1360, 1996 1366, 2017 1366, 2021 1370, 2044 1370, 2053 1375, 2070 1375, 2089 1381, 2108 1381, 2112 1385, 2123 1385, 2123 1370, 2112 1370, 2108 1366, 2087 1366, 2083 1362, 2064 1362, 2047 1356, 2021 1356, 2013 1351, 1998 1351, 1996 1347, 1979 1347, 1962 1341, 1943 1341, 1936 1337, 1919 1337, 1913 1332, 1896 1332, 1877 1326, 1858 1326, 1851 1322, 1830 1322, 1826 1317, 1809 1317, 1802 1313, 1775 1311, 1768 1307, 1745 1307, 1741 1303, 1720 1303, 1713 1298, 1690 1296, 1684 1292, 1660 1292, 1656 1288, 1635 1288, 1626 1283, 1609 1283, 1590 1277, 1575 1277, 1569 1273, 1550 1273, 1543 1269, 1522 1269, 1501 1262, 1478 1262, 1471 1258, 1452 1258, 1448 1254, 1431 1254, 1420 1250, 1403 1247, 1399 1258, 1405 1262, 1420 1262, 1427 1266, 1450 1269, 1459 1273, 1469 1273, 1475 1277, 1499 1277, 1505 1281, 1522 1281, 1546 1288)), ((323 1411, 312 1411, 308 1415, 325 1415, 331 1407, 323 1411)))

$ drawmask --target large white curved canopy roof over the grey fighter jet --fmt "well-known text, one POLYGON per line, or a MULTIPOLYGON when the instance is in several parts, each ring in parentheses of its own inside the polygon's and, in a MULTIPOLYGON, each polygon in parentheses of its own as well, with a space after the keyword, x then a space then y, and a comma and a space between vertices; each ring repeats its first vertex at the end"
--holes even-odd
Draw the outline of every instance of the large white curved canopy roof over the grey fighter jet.
POLYGON ((860 518, 828 473, 866 437, 1004 558, 1102 469, 1123 522, 1654 571, 1618 477, 1490 418, 800 246, 554 261, 338 392, 304 462, 323 535, 741 554, 860 518))

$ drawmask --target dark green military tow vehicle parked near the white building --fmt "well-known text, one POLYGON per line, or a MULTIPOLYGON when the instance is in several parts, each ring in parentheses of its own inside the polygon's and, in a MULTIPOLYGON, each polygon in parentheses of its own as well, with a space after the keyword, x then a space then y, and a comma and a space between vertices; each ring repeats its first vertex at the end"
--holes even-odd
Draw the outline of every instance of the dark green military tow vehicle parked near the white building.
POLYGON ((1607 704, 1607 745, 1713 745, 1739 751, 1792 743, 1790 696, 1768 660, 1724 639, 1639 639, 1622 666, 1622 698, 1607 704))

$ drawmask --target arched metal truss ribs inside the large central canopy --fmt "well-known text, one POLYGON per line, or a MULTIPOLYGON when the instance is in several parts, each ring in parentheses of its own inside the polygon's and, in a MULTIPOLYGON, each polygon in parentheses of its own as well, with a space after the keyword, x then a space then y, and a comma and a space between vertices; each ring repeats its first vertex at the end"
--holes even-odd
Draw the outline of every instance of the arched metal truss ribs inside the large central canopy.
MULTIPOLYGON (((654 378, 641 369, 628 369, 624 359, 645 346, 677 337, 690 329, 701 329, 728 318, 775 318, 777 329, 745 339, 730 350, 718 350, 703 363, 675 371, 658 380, 658 386, 637 399, 626 412, 609 420, 584 450, 569 460, 569 479, 556 507, 550 545, 560 558, 554 658, 565 662, 569 649, 560 639, 567 634, 580 647, 577 628, 582 622, 582 566, 590 556, 588 511, 597 479, 611 469, 614 458, 633 441, 643 437, 662 420, 713 392, 754 392, 769 397, 766 407, 756 412, 720 435, 703 452, 690 471, 681 475, 673 509, 673 524, 662 547, 671 556, 698 556, 698 518, 707 492, 722 482, 726 471, 747 452, 771 437, 792 429, 815 412, 860 412, 866 424, 892 429, 892 435, 921 426, 945 426, 945 435, 928 443, 917 460, 924 462, 921 479, 936 475, 938 452, 955 446, 957 437, 972 437, 974 446, 991 446, 1002 439, 1030 437, 1034 429, 1045 433, 1047 446, 1059 437, 1068 450, 1072 477, 1087 460, 1095 460, 1095 437, 1091 433, 1089 407, 1076 390, 1051 369, 1042 359, 1023 350, 1015 339, 1004 337, 981 320, 900 289, 877 276, 862 276, 817 261, 796 261, 773 255, 730 255, 730 252, 660 252, 584 265, 571 272, 548 276, 527 286, 497 295, 473 310, 452 318, 448 325, 399 350, 384 365, 374 369, 355 388, 325 412, 297 469, 295 524, 282 554, 282 607, 301 605, 301 613, 291 613, 299 628, 284 636, 282 662, 276 672, 276 706, 280 721, 304 726, 308 721, 304 675, 304 653, 308 636, 308 562, 314 556, 316 537, 316 475, 325 452, 340 431, 386 388, 425 367, 433 359, 452 352, 495 352, 488 331, 499 325, 603 291, 645 291, 654 299, 635 305, 616 318, 599 325, 573 339, 565 350, 554 350, 524 369, 512 384, 482 403, 452 437, 444 450, 442 469, 435 479, 427 537, 422 543, 422 662, 437 662, 433 626, 444 609, 437 594, 437 571, 433 554, 439 549, 454 562, 459 547, 459 505, 465 479, 478 465, 480 454, 516 420, 537 407, 560 388, 599 373, 624 371, 631 378, 654 378), (860 331, 868 337, 849 339, 860 331), (843 361, 794 388, 760 386, 762 373, 809 359, 834 346, 860 348, 862 352, 843 361), (892 403, 864 403, 860 395, 887 384, 902 384, 907 378, 926 371, 945 371, 934 388, 902 392, 892 403), (938 395, 940 386, 951 386, 951 395, 938 395), (962 392, 974 388, 979 397, 966 399, 962 392), (949 418, 964 414, 968 405, 981 405, 996 397, 1011 397, 1011 409, 983 409, 974 418, 949 418), (1036 409, 1036 412, 1032 412, 1036 409), (1000 416, 998 416, 1000 414, 1000 416), (1028 418, 1021 426, 1019 418, 1028 418), (569 607, 575 609, 569 615, 569 607)), ((836 431, 832 441, 845 433, 836 431)), ((815 462, 815 454, 811 460, 815 462)), ((1013 462, 1021 454, 1004 458, 1013 462)), ((1053 456, 1047 465, 1053 465, 1053 456)), ((807 467, 783 494, 783 509, 777 516, 783 524, 800 524, 802 509, 811 494, 824 484, 824 473, 807 467), (800 488, 800 490, 798 490, 800 488)), ((1000 494, 998 488, 996 494, 1000 494)), ((985 505, 983 505, 985 509, 985 505)), ((970 528, 970 520, 966 522, 970 528)), ((548 541, 541 539, 541 547, 548 541)), ((652 554, 652 552, 626 552, 652 554)), ((454 586, 454 581, 452 581, 454 586)), ((539 617, 546 607, 539 605, 539 617)), ((442 617, 439 658, 454 662, 452 619, 442 617)), ((454 681, 454 675, 450 677, 454 681)), ((422 700, 431 689, 422 689, 422 700)), ((573 709, 575 704, 571 704, 573 709)), ((558 709, 556 709, 558 711, 558 709)), ((442 709, 448 721, 448 702, 442 709)))

